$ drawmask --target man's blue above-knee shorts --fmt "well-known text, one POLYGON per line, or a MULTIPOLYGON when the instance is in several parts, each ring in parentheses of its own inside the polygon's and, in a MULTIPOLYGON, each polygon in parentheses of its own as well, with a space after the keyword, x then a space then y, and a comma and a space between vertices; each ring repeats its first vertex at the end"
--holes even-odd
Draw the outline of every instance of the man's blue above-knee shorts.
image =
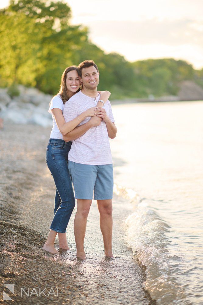
POLYGON ((113 164, 89 165, 68 160, 75 198, 107 200, 113 198, 113 164))

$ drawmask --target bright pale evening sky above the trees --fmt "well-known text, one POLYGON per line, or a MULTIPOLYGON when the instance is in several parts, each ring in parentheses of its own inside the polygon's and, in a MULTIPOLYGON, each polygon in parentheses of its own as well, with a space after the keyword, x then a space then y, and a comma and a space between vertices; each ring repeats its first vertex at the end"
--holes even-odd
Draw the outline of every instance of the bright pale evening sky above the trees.
MULTIPOLYGON (((89 28, 93 43, 129 61, 184 59, 203 67, 202 0, 67 0, 72 24, 89 28)), ((0 8, 9 0, 1 0, 0 8)))

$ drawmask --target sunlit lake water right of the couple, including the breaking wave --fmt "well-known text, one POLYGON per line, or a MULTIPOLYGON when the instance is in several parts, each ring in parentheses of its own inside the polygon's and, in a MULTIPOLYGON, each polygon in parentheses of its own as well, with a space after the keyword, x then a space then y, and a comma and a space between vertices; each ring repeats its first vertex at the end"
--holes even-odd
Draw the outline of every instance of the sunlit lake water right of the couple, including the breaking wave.
MULTIPOLYGON (((203 102, 113 105, 115 192, 158 304, 203 304, 203 102)), ((122 211, 121 211, 122 213, 122 211)))

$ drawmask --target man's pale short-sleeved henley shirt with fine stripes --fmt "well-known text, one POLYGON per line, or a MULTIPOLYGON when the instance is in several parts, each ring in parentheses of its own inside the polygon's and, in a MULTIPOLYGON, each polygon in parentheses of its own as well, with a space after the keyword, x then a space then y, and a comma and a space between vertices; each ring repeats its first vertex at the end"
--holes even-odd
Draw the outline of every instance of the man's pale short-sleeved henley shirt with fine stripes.
MULTIPOLYGON (((92 98, 81 91, 73 95, 64 105, 63 115, 66 122, 78 117, 85 110, 95 107, 100 99, 92 98)), ((111 122, 114 121, 111 104, 109 100, 104 104, 111 122)), ((78 126, 87 123, 91 117, 87 117, 78 126)), ((68 153, 68 160, 91 165, 111 164, 112 156, 110 151, 110 143, 105 122, 101 122, 99 126, 91 127, 84 135, 72 142, 71 149, 68 153)))

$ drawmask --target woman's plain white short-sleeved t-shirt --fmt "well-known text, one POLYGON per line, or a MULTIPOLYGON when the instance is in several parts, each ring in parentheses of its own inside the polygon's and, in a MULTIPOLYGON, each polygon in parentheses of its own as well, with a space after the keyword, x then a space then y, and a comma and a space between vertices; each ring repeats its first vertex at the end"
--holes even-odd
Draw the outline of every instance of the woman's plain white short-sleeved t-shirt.
POLYGON ((60 95, 55 95, 52 98, 51 103, 50 103, 50 107, 49 107, 49 113, 51 113, 52 119, 53 119, 53 122, 54 122, 53 127, 51 129, 50 138, 51 139, 62 139, 63 140, 63 135, 62 135, 61 131, 58 129, 58 126, 56 124, 56 121, 55 121, 53 113, 52 113, 53 108, 59 108, 63 111, 64 103, 63 103, 60 95))

